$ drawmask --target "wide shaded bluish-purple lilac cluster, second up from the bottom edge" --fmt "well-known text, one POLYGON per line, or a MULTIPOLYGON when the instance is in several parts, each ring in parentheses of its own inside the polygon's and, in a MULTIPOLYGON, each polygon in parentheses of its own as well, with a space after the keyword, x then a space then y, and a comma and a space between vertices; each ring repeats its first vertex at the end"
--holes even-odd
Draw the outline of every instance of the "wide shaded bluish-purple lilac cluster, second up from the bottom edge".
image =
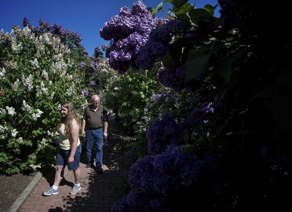
POLYGON ((194 185, 203 180, 200 178, 201 172, 217 170, 218 161, 213 157, 198 158, 194 154, 182 153, 182 149, 183 147, 172 144, 161 154, 138 159, 129 170, 131 188, 163 193, 173 184, 186 187, 194 185))

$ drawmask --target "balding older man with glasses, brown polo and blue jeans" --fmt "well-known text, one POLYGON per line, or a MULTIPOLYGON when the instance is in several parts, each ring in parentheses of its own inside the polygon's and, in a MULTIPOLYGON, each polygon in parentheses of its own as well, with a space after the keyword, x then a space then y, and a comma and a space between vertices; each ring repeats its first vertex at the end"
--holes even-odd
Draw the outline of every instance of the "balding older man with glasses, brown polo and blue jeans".
POLYGON ((82 120, 82 135, 85 136, 85 125, 87 125, 86 130, 86 146, 87 146, 87 159, 88 164, 86 168, 90 168, 94 163, 94 157, 92 154, 92 146, 95 141, 96 146, 96 171, 98 174, 102 173, 102 143, 103 136, 107 137, 107 111, 105 107, 99 104, 100 98, 98 95, 93 95, 92 105, 88 105, 83 114, 82 120), (102 125, 104 125, 104 131, 102 132, 102 125), (103 136, 102 136, 103 135, 103 136))

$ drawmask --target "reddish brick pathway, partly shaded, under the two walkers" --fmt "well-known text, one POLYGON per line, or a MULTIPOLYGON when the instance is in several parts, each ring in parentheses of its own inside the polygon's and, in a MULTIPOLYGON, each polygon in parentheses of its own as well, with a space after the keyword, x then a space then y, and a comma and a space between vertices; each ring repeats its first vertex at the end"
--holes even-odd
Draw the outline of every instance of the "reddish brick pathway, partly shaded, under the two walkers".
POLYGON ((59 185, 59 194, 44 196, 46 191, 54 183, 55 168, 47 170, 25 202, 20 206, 18 212, 53 212, 53 211, 111 211, 114 199, 109 197, 109 183, 115 182, 125 171, 123 161, 125 152, 125 137, 115 128, 114 117, 109 117, 109 135, 107 144, 103 145, 103 174, 93 168, 85 168, 87 157, 85 143, 82 143, 82 155, 80 159, 81 168, 81 190, 77 194, 70 195, 73 187, 73 171, 65 168, 64 177, 59 185))

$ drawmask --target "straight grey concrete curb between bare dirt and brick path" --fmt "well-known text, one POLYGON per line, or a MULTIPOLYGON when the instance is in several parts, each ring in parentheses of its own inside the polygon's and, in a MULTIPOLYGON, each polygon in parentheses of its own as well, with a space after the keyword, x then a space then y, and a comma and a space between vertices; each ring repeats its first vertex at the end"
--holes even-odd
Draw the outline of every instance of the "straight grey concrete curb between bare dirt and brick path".
POLYGON ((28 186, 25 188, 25 190, 20 194, 20 196, 15 200, 13 205, 8 209, 7 212, 16 212, 18 208, 22 205, 22 203, 25 201, 29 193, 33 190, 36 183, 39 182, 39 179, 41 179, 41 176, 43 174, 39 171, 39 173, 36 174, 36 176, 32 179, 32 181, 28 184, 28 186))

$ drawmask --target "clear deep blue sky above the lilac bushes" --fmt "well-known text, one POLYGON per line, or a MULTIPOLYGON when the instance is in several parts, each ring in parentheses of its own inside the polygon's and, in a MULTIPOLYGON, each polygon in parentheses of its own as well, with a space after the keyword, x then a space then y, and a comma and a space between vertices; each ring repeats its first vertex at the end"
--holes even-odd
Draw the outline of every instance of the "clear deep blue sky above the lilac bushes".
MULTIPOLYGON (((162 0, 144 0, 147 7, 155 8, 162 0)), ((81 34, 84 48, 89 55, 93 54, 95 46, 109 44, 99 36, 99 30, 104 23, 114 15, 119 15, 120 8, 126 6, 132 8, 135 0, 9 0, 1 2, 0 29, 10 32, 12 25, 17 24, 23 29, 22 21, 26 17, 31 25, 39 26, 39 19, 49 21, 51 24, 60 24, 63 29, 74 29, 81 34)), ((194 4, 194 1, 189 1, 194 4)), ((206 4, 215 6, 217 0, 196 0, 196 8, 202 8, 206 4)), ((169 3, 164 3, 165 11, 172 8, 169 3)), ((159 11, 157 17, 165 17, 165 13, 159 11)), ((219 17, 219 7, 215 10, 215 17, 219 17)))

